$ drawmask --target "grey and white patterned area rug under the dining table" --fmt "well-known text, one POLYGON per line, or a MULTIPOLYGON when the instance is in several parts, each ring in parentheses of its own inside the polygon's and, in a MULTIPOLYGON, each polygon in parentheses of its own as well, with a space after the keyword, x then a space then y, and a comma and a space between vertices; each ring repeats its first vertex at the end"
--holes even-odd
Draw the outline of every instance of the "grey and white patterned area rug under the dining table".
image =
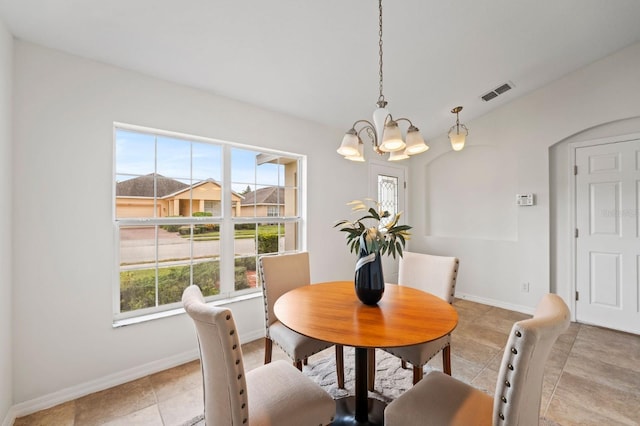
MULTIPOLYGON (((424 367, 427 374, 432 368, 424 367)), ((326 390, 334 399, 354 394, 355 385, 355 350, 344 348, 344 385, 345 389, 339 389, 336 381, 336 363, 333 353, 319 360, 309 362, 303 367, 303 373, 310 377, 326 390)), ((389 353, 376 350, 376 381, 373 392, 369 391, 369 397, 379 399, 386 403, 393 401, 403 392, 409 389, 413 383, 413 371, 403 369, 400 360, 389 353)), ((205 426, 202 415, 184 423, 181 426, 205 426)), ((561 426, 558 423, 541 418, 540 426, 561 426)))

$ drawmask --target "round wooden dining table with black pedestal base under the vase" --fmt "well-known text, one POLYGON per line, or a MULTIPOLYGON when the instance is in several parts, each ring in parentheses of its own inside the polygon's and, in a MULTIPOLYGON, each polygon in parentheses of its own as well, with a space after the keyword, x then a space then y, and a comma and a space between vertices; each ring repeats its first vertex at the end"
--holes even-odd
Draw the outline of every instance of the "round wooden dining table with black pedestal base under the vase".
POLYGON ((276 301, 274 313, 300 334, 355 347, 355 397, 353 402, 337 401, 335 426, 384 424, 385 404, 368 398, 368 349, 426 343, 458 324, 453 306, 433 294, 386 284, 382 299, 369 306, 358 300, 353 281, 298 287, 276 301))

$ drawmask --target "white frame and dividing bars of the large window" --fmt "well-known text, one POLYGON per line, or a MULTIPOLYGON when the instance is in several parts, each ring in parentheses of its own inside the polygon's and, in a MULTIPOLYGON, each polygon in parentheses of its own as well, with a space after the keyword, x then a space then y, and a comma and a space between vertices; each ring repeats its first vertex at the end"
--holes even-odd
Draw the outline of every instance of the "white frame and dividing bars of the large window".
MULTIPOLYGON (((252 146, 239 144, 235 142, 212 139, 202 136, 194 136, 184 133, 159 130, 144 126, 132 125, 128 123, 114 122, 113 126, 113 179, 112 179, 112 218, 114 223, 114 241, 116 251, 114 284, 113 284, 113 326, 119 327, 132 323, 138 323, 155 318, 162 318, 184 312, 180 302, 160 305, 150 308, 138 309, 128 312, 120 312, 120 227, 135 225, 164 225, 170 223, 180 224, 202 224, 214 223, 220 226, 220 293, 215 296, 209 296, 207 301, 215 301, 217 304, 230 303, 245 297, 258 297, 262 294, 260 287, 235 290, 235 250, 234 250, 234 230, 235 225, 239 223, 296 223, 297 237, 295 245, 296 251, 306 250, 306 156, 291 152, 278 151, 260 146, 252 146), (155 135, 159 137, 170 137, 192 142, 204 142, 218 145, 222 148, 222 216, 220 217, 181 217, 181 218, 117 218, 116 217, 116 134, 118 130, 133 131, 144 134, 155 135), (298 170, 296 174, 297 201, 296 211, 298 214, 293 217, 237 217, 232 215, 232 182, 231 182, 231 152, 232 149, 243 149, 258 151, 263 154, 272 156, 284 156, 295 158, 298 162, 298 170), (233 254, 232 260, 227 260, 226 253, 233 254), (224 259, 224 260, 223 260, 224 259)), ((281 246, 281 245, 279 245, 281 246)), ((257 251, 257 247, 256 247, 257 251)), ((279 253, 284 252, 283 247, 279 247, 279 253)), ((193 263, 193 257, 191 257, 193 263)))

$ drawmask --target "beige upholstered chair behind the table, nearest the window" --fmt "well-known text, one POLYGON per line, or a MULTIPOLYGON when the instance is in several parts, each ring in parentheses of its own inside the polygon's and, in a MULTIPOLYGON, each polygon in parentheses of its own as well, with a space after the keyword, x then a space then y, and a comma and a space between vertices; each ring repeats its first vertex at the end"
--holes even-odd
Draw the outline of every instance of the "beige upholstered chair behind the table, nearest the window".
MULTIPOLYGON (((311 355, 333 346, 333 343, 312 339, 287 328, 276 318, 273 305, 287 291, 311 284, 309 253, 266 255, 261 256, 258 263, 266 326, 264 363, 271 362, 275 342, 302 371, 303 362, 306 364, 311 355)), ((344 388, 344 349, 335 345, 335 351, 337 384, 344 388)))

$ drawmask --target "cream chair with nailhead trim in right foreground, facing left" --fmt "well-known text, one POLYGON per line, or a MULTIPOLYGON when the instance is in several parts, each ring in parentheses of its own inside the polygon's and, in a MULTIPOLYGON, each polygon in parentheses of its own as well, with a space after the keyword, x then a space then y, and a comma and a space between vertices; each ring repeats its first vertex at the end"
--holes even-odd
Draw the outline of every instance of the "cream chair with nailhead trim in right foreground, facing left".
POLYGON ((558 336, 569 327, 569 316, 562 298, 547 294, 533 318, 513 325, 493 398, 432 371, 387 406, 385 425, 537 425, 545 363, 558 336))

